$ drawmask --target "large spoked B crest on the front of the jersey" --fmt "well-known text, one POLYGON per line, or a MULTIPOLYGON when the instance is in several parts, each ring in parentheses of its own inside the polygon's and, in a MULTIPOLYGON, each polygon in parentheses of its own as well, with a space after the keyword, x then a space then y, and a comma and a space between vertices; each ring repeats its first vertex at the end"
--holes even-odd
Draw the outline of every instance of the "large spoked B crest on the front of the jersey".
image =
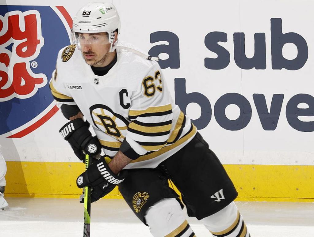
POLYGON ((90 116, 97 128, 116 139, 123 141, 129 122, 106 105, 95 104, 89 108, 90 116))

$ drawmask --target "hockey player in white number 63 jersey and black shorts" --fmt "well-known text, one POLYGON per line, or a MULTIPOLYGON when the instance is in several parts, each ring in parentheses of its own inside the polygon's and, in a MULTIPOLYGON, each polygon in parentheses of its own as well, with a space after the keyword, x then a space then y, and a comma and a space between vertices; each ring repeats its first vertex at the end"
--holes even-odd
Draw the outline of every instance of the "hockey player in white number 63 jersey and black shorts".
POLYGON ((106 154, 77 178, 78 187, 92 187, 95 202, 118 185, 153 236, 195 236, 170 179, 188 215, 214 236, 250 236, 233 202, 234 185, 172 100, 158 63, 118 42, 119 33, 120 18, 111 3, 81 8, 73 19, 75 44, 59 51, 50 82, 70 120, 60 133, 74 153, 83 161, 85 153, 106 154))

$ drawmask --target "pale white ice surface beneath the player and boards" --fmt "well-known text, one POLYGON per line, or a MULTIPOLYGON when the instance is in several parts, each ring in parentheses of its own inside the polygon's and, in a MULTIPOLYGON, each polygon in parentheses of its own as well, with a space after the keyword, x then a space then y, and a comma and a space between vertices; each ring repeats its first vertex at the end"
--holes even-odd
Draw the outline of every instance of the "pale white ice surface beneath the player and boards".
MULTIPOLYGON (((77 199, 7 198, 0 212, 0 236, 83 236, 83 204, 77 199)), ((236 202, 252 237, 313 237, 314 203, 236 202)), ((188 218, 196 236, 211 236, 195 218, 188 218)), ((92 203, 92 237, 148 237, 124 200, 92 203)))

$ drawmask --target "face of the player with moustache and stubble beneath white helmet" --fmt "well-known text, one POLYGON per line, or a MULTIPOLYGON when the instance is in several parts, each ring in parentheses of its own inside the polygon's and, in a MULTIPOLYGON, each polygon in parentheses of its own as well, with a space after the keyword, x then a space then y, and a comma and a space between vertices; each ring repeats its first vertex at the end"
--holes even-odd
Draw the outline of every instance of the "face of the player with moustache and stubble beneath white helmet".
POLYGON ((85 62, 90 66, 102 66, 110 50, 108 34, 79 33, 78 37, 85 62))

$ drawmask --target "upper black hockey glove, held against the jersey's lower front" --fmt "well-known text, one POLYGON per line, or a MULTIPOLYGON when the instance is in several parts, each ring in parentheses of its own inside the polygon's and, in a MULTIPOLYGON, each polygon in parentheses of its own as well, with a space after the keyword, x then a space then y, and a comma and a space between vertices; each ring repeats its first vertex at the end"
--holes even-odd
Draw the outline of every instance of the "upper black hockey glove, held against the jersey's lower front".
POLYGON ((85 154, 95 158, 101 152, 97 137, 89 131, 89 123, 83 119, 74 119, 65 124, 60 130, 62 137, 69 142, 75 155, 85 163, 85 154))

